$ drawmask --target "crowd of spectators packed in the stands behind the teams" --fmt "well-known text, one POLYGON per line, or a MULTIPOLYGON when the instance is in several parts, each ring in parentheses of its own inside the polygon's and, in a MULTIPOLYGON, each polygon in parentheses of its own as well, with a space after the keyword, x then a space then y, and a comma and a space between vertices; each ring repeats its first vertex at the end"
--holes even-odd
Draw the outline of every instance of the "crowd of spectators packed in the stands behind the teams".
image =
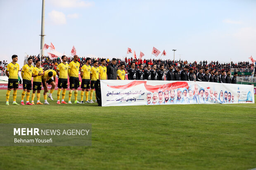
MULTIPOLYGON (((29 56, 33 58, 33 62, 40 60, 40 56, 29 56)), ((78 61, 81 65, 81 67, 85 64, 85 59, 86 57, 79 57, 78 61)), ((98 58, 92 58, 92 63, 93 61, 97 60, 100 61, 100 57, 98 58)), ((68 63, 70 63, 73 60, 73 57, 68 57, 68 63)), ((111 63, 111 59, 106 58, 107 60, 107 65, 109 63, 111 63)), ((5 61, 3 61, 5 62, 5 61)), ((41 67, 43 68, 43 70, 48 70, 48 69, 53 69, 56 70, 57 65, 59 63, 61 63, 61 59, 60 58, 56 58, 56 59, 50 59, 50 57, 48 56, 43 56, 41 58, 41 67)), ((161 60, 161 59, 133 59, 133 58, 125 58, 124 60, 121 60, 120 58, 117 58, 117 65, 118 67, 120 66, 121 63, 125 64, 125 71, 127 73, 127 71, 130 69, 130 63, 134 62, 135 63, 135 67, 138 68, 139 64, 143 64, 144 68, 146 68, 147 64, 153 65, 156 64, 157 69, 159 68, 159 66, 161 64, 164 65, 165 70, 168 70, 168 66, 169 65, 173 65, 174 67, 181 67, 183 68, 185 65, 188 65, 190 68, 194 69, 194 72, 197 73, 199 72, 199 68, 203 68, 205 69, 209 69, 209 70, 217 70, 218 72, 221 72, 221 70, 230 70, 230 63, 220 63, 218 61, 200 61, 197 63, 197 61, 194 62, 188 62, 187 60, 183 61, 173 61, 173 60, 161 60)), ((100 62, 99 62, 100 63, 100 62)), ((249 63, 248 61, 241 61, 238 63, 232 63, 231 62, 231 69, 232 71, 237 71, 236 69, 251 69, 253 68, 253 65, 251 63, 249 63)))

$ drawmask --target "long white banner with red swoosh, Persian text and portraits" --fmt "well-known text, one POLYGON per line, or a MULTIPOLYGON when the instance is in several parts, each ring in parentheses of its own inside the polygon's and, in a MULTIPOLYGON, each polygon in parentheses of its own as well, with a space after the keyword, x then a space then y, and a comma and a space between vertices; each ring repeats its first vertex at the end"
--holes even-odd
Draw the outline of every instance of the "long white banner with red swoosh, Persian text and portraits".
POLYGON ((254 103, 254 86, 213 82, 101 80, 102 106, 254 103))

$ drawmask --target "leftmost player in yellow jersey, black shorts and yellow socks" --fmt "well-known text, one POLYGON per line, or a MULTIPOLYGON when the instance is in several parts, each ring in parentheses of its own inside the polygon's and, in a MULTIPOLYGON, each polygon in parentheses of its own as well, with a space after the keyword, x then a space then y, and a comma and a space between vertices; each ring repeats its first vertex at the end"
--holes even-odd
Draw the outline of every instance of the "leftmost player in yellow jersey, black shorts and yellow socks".
POLYGON ((12 94, 13 103, 12 104, 19 105, 16 102, 17 88, 19 87, 19 83, 18 83, 19 64, 17 63, 17 61, 18 61, 18 56, 12 55, 12 62, 7 65, 7 68, 5 70, 5 74, 9 78, 7 92, 6 92, 6 105, 9 105, 9 96, 10 96, 12 88, 13 88, 13 94, 12 94))

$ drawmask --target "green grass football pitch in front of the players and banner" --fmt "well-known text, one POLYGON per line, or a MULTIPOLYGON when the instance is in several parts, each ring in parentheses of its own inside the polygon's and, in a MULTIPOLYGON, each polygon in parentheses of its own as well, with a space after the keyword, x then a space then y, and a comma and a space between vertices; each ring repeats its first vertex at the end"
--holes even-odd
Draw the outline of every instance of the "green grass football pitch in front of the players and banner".
POLYGON ((256 104, 57 105, 55 91, 33 106, 11 105, 11 92, 6 106, 5 93, 0 123, 92 123, 92 146, 0 147, 1 170, 256 168, 256 104))

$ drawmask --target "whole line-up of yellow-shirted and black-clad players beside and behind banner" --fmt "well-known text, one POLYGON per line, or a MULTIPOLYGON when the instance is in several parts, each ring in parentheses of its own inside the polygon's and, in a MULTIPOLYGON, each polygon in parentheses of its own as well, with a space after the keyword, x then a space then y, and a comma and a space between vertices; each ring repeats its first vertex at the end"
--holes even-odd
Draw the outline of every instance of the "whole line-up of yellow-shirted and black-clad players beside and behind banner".
MULTIPOLYGON (((16 102, 17 97, 17 88, 18 88, 18 72, 19 72, 19 64, 17 63, 18 56, 13 55, 12 56, 12 62, 7 65, 6 68, 6 75, 9 77, 8 79, 8 88, 6 93, 6 105, 9 105, 9 95, 11 92, 11 89, 13 88, 13 105, 19 105, 16 102)), ((36 104, 41 105, 43 103, 40 102, 40 91, 42 89, 42 84, 44 88, 44 104, 49 104, 47 102, 47 84, 51 85, 50 94, 48 95, 48 98, 53 100, 52 93, 55 89, 55 82, 56 82, 56 76, 59 77, 58 79, 58 91, 57 91, 57 104, 67 104, 64 101, 65 95, 66 95, 66 88, 68 86, 68 77, 70 82, 70 91, 69 91, 69 101, 71 102, 71 96, 72 91, 74 89, 74 96, 75 96, 75 102, 74 103, 93 103, 92 101, 92 95, 93 91, 95 89, 96 81, 97 79, 120 79, 124 80, 126 79, 125 71, 124 71, 124 64, 121 64, 119 69, 116 65, 116 59, 113 58, 112 62, 106 67, 106 59, 101 60, 101 65, 98 67, 98 61, 93 61, 93 67, 91 67, 91 58, 86 58, 85 65, 81 68, 81 77, 82 77, 82 83, 81 83, 81 102, 77 100, 78 96, 78 87, 79 84, 79 68, 80 63, 78 62, 78 56, 75 55, 73 57, 73 61, 71 61, 69 64, 66 62, 67 57, 62 56, 62 63, 60 63, 57 66, 56 71, 55 70, 45 70, 43 71, 42 68, 40 68, 40 61, 36 61, 36 66, 33 67, 33 59, 28 58, 28 64, 24 65, 21 70, 21 77, 23 79, 23 92, 21 94, 21 105, 24 104, 24 98, 26 95, 26 105, 35 105, 34 98, 35 95, 37 96, 37 102, 36 104), (30 91, 32 89, 32 80, 33 77, 33 92, 32 92, 32 99, 31 103, 29 102, 30 98, 30 91), (52 79, 53 77, 53 79, 52 79), (60 102, 60 93, 62 90, 62 101, 60 102), (90 101, 88 100, 90 91, 90 101), (37 94, 36 94, 37 92, 37 94), (85 102, 83 101, 83 95, 85 93, 85 102)), ((143 65, 139 65, 139 69, 135 70, 135 63, 131 63, 131 68, 128 70, 128 79, 147 79, 147 80, 164 80, 164 77, 166 77, 166 80, 178 80, 178 81, 207 81, 207 82, 216 82, 216 79, 221 83, 236 83, 236 76, 237 73, 235 72, 235 75, 230 78, 230 72, 227 72, 227 75, 225 75, 225 71, 222 71, 222 74, 218 77, 218 72, 215 72, 211 70, 211 74, 209 74, 208 70, 205 70, 205 74, 202 74, 203 70, 200 69, 197 75, 194 75, 194 70, 189 69, 188 66, 185 66, 184 70, 181 70, 180 67, 176 68, 176 70, 173 71, 173 66, 169 67, 168 72, 166 72, 166 75, 164 74, 164 66, 160 65, 160 69, 158 72, 156 72, 156 65, 147 65, 147 69, 143 70, 143 65), (187 73, 187 71, 189 72, 187 73), (217 78, 216 78, 217 77, 217 78)), ((97 100, 95 101, 97 102, 97 100)))

